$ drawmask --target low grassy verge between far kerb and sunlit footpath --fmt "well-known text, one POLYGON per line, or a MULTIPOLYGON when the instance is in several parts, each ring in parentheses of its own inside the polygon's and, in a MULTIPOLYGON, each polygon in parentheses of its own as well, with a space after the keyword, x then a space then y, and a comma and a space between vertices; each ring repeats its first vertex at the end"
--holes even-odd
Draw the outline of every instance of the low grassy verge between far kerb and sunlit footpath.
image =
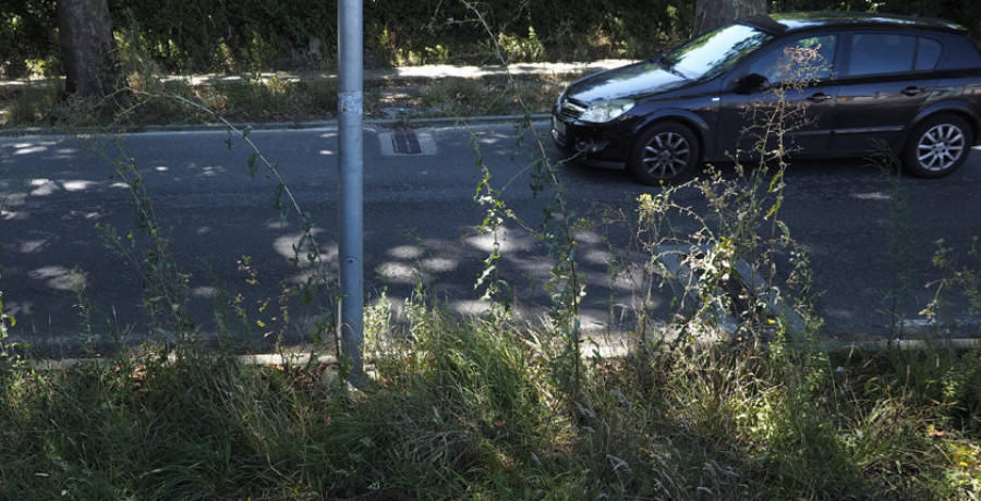
MULTIPOLYGON (((365 82, 365 117, 483 117, 547 112, 562 85, 576 75, 524 76, 516 86, 505 78, 383 80, 365 82), (526 107, 526 108, 525 108, 526 107)), ((0 126, 217 124, 208 114, 183 105, 190 99, 233 123, 303 123, 337 118, 337 81, 323 76, 246 75, 213 80, 130 78, 130 89, 99 113, 81 119, 77 106, 62 102, 57 82, 0 87, 0 126)), ((86 113, 82 113, 86 114, 86 113)))

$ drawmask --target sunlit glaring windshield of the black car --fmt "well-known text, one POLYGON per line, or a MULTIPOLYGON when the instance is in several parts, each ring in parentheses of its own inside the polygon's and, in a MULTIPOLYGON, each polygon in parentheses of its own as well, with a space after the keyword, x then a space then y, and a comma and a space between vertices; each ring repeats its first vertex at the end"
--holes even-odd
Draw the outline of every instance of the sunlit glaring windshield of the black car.
POLYGON ((723 26, 675 48, 661 59, 661 64, 690 80, 714 76, 773 38, 744 24, 723 26))

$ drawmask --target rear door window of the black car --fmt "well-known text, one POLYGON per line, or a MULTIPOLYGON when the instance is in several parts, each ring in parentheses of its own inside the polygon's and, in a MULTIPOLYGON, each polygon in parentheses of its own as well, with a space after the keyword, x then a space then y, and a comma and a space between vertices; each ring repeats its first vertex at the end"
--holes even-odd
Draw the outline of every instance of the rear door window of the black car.
POLYGON ((851 36, 849 49, 850 76, 908 72, 912 70, 916 60, 917 37, 861 33, 851 36))

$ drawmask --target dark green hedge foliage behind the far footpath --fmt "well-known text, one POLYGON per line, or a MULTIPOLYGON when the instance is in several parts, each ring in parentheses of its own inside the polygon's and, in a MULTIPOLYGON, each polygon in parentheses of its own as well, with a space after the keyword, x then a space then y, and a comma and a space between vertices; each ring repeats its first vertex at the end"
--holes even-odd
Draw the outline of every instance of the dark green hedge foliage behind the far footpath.
MULTIPOLYGON (((337 0, 110 0, 121 52, 144 52, 160 71, 243 73, 322 70, 337 53, 337 0)), ((775 0, 771 11, 855 10, 965 23, 979 38, 970 0, 775 0)), ((510 62, 646 58, 691 33, 694 2, 494 0, 471 9, 446 0, 368 1, 368 65, 496 62, 486 24, 510 62), (643 13, 639 15, 639 9, 643 13)), ((0 77, 60 72, 55 0, 0 2, 0 77)))

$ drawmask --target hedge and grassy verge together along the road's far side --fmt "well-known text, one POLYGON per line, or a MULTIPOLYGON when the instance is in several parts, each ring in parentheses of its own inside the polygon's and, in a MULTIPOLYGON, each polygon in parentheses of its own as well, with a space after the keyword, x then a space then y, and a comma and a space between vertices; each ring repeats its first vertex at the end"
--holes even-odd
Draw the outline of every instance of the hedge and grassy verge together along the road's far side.
MULTIPOLYGON (((328 75, 336 73, 337 64, 336 2, 202 0, 189 5, 180 0, 111 0, 109 4, 116 59, 124 68, 126 85, 104 102, 84 103, 97 111, 86 121, 80 118, 81 103, 62 101, 64 71, 55 1, 0 2, 0 126, 46 127, 64 123, 66 117, 75 125, 119 129, 215 123, 208 114, 187 113, 152 98, 161 93, 206 103, 234 123, 335 118, 337 84, 328 75), (14 80, 16 84, 5 85, 14 80)), ((977 39, 979 5, 970 0, 777 0, 770 10, 937 16, 962 23, 977 39)), ((643 15, 630 0, 583 1, 576 9, 558 0, 367 2, 365 63, 386 69, 640 60, 687 39, 693 12, 692 0, 652 1, 643 15)), ((398 109, 422 117, 544 112, 556 89, 574 76, 521 82, 523 103, 500 80, 368 82, 365 107, 367 117, 376 119, 398 115, 398 109)))

